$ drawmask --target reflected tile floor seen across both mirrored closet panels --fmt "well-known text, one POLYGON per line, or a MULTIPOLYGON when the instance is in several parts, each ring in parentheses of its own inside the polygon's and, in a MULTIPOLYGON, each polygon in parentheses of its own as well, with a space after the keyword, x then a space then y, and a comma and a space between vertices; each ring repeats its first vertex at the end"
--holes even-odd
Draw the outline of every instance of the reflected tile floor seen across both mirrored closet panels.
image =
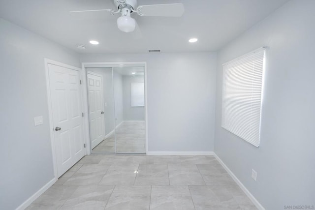
MULTIPOLYGON (((145 121, 123 121, 116 128, 117 153, 145 153, 145 121)), ((115 152, 114 133, 92 152, 115 152)))

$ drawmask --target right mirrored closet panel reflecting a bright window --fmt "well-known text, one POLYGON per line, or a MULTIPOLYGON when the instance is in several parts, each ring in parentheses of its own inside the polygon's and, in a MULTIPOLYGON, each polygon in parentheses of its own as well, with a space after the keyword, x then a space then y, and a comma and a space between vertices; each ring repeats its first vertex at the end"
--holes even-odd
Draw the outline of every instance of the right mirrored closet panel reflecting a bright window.
POLYGON ((113 67, 116 153, 145 153, 144 67, 113 67))

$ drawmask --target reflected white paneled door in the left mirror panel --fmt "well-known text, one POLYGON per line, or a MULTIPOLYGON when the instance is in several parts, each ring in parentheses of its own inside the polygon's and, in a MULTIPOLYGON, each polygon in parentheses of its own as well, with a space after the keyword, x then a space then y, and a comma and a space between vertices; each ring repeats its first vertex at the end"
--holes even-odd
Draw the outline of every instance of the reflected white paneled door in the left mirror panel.
POLYGON ((91 145, 94 149, 105 138, 104 99, 102 76, 94 72, 87 72, 89 105, 90 105, 90 132, 91 145))

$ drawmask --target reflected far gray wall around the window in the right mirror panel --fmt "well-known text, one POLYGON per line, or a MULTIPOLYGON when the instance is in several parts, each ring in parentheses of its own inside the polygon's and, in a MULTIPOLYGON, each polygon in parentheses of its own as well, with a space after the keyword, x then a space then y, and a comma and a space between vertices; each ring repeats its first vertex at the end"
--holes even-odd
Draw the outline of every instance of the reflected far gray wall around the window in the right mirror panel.
POLYGON ((131 83, 143 83, 144 76, 123 76, 124 120, 145 120, 144 106, 131 107, 131 83))

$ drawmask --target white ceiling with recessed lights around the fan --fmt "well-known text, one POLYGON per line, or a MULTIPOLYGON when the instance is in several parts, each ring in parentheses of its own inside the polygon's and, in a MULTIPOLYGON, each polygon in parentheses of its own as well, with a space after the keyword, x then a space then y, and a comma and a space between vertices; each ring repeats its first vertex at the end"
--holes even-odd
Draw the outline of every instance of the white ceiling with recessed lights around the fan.
POLYGON ((138 0, 183 3, 180 18, 132 14, 140 31, 120 31, 119 15, 73 10, 115 9, 112 0, 0 0, 0 17, 82 54, 216 51, 288 0, 138 0), (188 39, 197 37, 196 43, 188 39), (99 41, 92 46, 89 40, 99 41), (77 44, 86 50, 76 49, 77 44))

